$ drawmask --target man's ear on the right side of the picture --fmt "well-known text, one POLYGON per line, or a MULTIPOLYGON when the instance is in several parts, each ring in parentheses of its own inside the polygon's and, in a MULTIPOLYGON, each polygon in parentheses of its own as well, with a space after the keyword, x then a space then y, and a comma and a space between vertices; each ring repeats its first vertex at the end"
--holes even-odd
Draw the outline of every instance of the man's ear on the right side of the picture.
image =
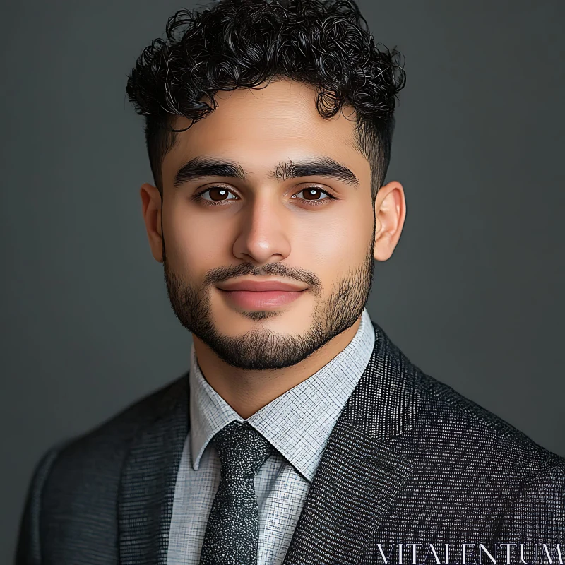
POLYGON ((377 261, 391 258, 406 218, 404 189, 398 181, 381 186, 375 198, 375 246, 377 261))

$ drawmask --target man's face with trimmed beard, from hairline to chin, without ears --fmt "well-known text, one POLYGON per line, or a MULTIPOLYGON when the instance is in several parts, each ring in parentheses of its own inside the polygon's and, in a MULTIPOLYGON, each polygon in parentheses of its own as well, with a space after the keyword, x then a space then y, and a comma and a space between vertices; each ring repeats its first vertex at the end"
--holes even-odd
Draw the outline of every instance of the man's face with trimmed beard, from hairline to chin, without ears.
POLYGON ((217 100, 162 164, 167 292, 183 326, 228 364, 290 367, 350 328, 369 296, 369 162, 353 117, 321 117, 307 85, 217 100), (230 290, 259 281, 291 287, 230 290))

